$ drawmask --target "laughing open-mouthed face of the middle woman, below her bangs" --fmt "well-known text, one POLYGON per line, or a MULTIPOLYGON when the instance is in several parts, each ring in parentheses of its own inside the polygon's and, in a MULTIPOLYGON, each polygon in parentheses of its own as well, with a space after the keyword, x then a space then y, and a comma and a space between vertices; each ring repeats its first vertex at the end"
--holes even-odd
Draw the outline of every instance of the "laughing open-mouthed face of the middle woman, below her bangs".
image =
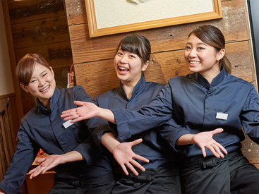
POLYGON ((148 66, 148 61, 143 61, 137 54, 119 49, 114 56, 114 68, 121 83, 135 85, 140 80, 142 72, 148 66))

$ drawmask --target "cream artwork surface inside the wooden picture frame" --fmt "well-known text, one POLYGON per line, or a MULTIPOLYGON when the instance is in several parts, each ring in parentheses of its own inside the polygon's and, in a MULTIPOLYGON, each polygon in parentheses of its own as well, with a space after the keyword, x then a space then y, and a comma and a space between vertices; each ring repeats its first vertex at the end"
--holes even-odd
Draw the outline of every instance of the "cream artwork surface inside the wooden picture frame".
POLYGON ((133 2, 141 1, 133 0, 109 0, 109 4, 104 4, 103 0, 94 2, 98 29, 213 11, 212 1, 207 0, 146 0, 140 4, 133 2))

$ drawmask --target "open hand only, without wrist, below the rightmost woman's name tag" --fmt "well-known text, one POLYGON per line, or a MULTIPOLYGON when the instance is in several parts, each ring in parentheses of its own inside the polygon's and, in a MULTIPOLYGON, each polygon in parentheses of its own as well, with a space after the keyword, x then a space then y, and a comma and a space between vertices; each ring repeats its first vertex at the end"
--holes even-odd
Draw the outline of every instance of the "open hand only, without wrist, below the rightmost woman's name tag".
POLYGON ((227 150, 212 138, 213 135, 222 133, 222 131, 223 128, 216 128, 213 131, 206 131, 193 135, 193 141, 200 146, 203 151, 203 157, 206 157, 205 147, 209 149, 215 157, 224 157, 224 154, 220 150, 227 154, 227 150))

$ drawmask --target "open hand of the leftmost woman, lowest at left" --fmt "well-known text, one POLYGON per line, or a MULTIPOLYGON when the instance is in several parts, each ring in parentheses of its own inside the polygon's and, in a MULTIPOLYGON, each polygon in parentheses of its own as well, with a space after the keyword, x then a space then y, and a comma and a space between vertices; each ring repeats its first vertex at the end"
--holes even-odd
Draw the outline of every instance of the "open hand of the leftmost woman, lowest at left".
POLYGON ((53 154, 48 157, 37 159, 36 163, 40 165, 29 171, 30 179, 38 176, 40 173, 44 174, 47 170, 52 169, 59 164, 63 164, 64 162, 61 155, 53 154))

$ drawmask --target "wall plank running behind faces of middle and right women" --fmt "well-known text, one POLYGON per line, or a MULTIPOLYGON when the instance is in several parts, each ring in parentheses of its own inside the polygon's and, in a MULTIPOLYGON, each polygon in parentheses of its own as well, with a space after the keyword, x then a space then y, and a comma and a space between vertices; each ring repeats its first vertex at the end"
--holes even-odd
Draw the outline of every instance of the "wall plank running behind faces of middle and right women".
MULTIPOLYGON (((232 74, 252 82, 248 42, 227 44, 226 49, 229 59, 233 61, 232 74)), ((113 59, 76 64, 75 73, 77 85, 82 85, 92 99, 119 86, 113 59)), ((187 73, 191 72, 186 66, 183 50, 167 51, 151 55, 145 78, 147 81, 167 83, 169 78, 187 73)))

